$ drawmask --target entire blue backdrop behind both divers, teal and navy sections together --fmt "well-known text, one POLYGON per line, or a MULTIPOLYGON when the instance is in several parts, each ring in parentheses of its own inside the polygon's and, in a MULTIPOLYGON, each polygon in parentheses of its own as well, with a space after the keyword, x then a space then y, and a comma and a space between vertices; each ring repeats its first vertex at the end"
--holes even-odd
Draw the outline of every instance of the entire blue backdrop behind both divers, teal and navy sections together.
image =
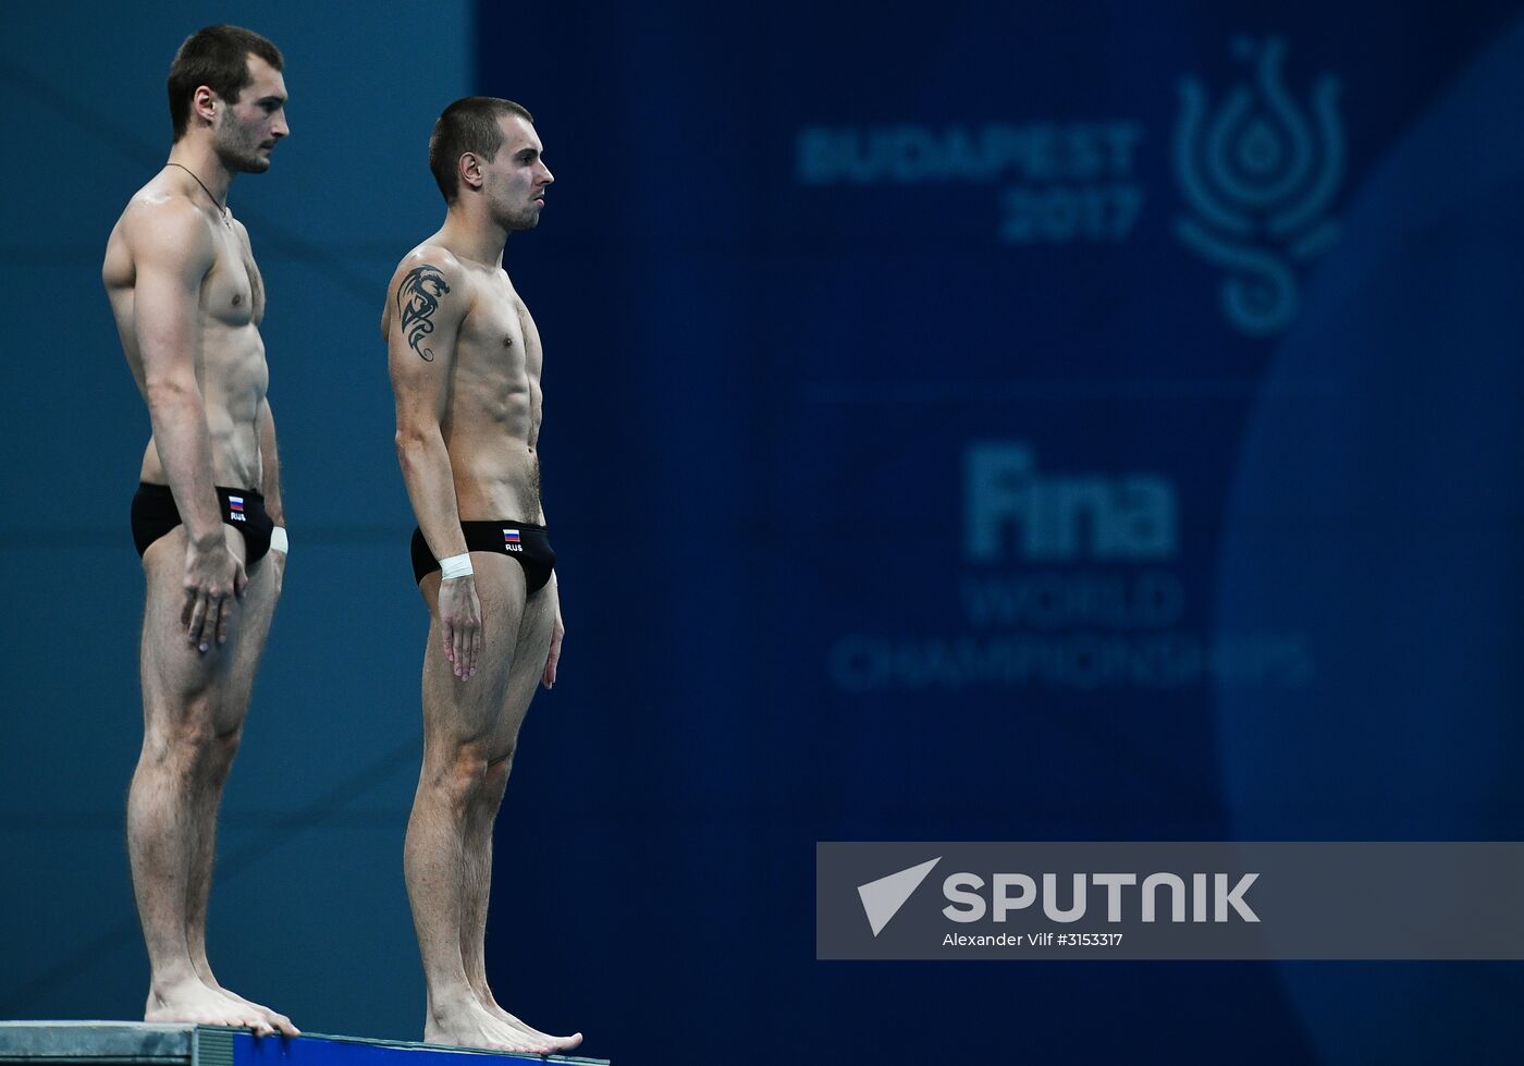
POLYGON ((425 618, 375 332, 428 127, 538 117, 568 637, 497 836, 506 1003, 631 1063, 1516 1057, 1501 964, 814 959, 817 840, 1519 839, 1518 3, 34 6, 0 40, 12 294, 0 1014, 133 1017, 126 531, 99 288, 229 20, 293 557, 212 955, 416 1039, 425 618), (84 619, 84 621, 81 621, 84 619))

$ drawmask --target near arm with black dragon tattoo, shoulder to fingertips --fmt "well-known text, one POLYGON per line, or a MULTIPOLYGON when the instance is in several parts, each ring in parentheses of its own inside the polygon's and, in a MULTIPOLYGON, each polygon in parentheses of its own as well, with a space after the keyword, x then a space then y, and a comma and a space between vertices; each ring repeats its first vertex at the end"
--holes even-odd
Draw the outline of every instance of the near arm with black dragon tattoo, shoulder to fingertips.
MULTIPOLYGON (((465 290, 465 278, 453 256, 419 249, 392 278, 383 319, 396 400, 396 458, 418 526, 437 560, 466 552, 454 473, 440 430, 450 403, 456 342, 469 310, 465 290)), ((442 578, 437 610, 445 657, 454 663, 457 677, 469 677, 483 647, 474 578, 442 578)))

